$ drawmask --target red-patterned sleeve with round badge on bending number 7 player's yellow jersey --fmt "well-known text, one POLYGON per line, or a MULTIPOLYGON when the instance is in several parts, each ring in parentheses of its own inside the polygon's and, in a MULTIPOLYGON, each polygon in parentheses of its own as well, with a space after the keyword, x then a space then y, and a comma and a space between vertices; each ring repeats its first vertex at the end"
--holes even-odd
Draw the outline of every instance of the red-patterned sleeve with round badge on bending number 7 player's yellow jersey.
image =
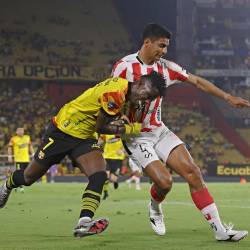
POLYGON ((103 110, 109 115, 117 115, 125 103, 125 94, 121 91, 106 92, 101 97, 103 110))

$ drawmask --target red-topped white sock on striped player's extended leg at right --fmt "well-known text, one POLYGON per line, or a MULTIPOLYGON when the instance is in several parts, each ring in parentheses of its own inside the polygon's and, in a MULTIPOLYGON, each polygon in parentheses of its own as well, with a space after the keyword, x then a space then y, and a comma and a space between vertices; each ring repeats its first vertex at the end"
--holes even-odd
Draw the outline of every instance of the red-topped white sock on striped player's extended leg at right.
POLYGON ((213 197, 210 195, 207 188, 191 193, 192 199, 196 207, 204 215, 207 222, 210 224, 214 232, 225 231, 222 225, 219 212, 213 197))

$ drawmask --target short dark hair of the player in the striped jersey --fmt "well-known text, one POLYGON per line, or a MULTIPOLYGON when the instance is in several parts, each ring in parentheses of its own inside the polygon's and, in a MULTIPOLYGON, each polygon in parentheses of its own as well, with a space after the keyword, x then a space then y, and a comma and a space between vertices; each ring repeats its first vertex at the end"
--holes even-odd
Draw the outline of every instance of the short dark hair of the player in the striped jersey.
POLYGON ((146 38, 158 39, 158 38, 164 37, 164 38, 170 39, 171 35, 172 35, 171 31, 169 31, 166 27, 161 26, 156 23, 149 23, 144 28, 142 39, 143 41, 146 38))

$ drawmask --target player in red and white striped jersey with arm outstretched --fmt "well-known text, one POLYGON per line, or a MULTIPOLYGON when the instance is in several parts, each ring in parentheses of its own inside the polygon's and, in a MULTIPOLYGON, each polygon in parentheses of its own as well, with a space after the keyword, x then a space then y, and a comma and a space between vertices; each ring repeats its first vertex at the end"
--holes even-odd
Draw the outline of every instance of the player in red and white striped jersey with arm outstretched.
MULTIPOLYGON (((112 70, 112 76, 126 78, 133 82, 141 75, 157 71, 164 76, 167 87, 178 81, 190 83, 201 90, 224 99, 234 107, 249 107, 247 100, 232 96, 217 88, 206 79, 187 73, 174 62, 163 59, 167 53, 171 33, 158 24, 149 24, 143 32, 141 49, 119 60, 112 70)), ((167 164, 182 176, 190 187, 196 207, 212 226, 217 240, 239 241, 247 236, 247 231, 235 231, 222 225, 215 202, 209 193, 199 167, 194 163, 185 144, 161 121, 162 99, 158 97, 146 102, 130 112, 129 119, 142 122, 140 136, 127 142, 131 159, 153 181, 149 204, 150 222, 158 235, 166 232, 161 202, 172 187, 172 177, 165 168, 167 164), (136 112, 139 111, 139 117, 136 112), (140 112, 141 111, 141 112, 140 112)))

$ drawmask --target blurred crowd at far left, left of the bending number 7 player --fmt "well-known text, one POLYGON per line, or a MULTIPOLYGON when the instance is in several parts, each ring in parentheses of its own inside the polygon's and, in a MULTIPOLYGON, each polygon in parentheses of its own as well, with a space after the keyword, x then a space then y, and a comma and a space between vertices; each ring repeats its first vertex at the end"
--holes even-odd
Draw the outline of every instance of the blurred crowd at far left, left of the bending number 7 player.
POLYGON ((0 93, 0 154, 7 153, 7 144, 17 127, 24 127, 36 146, 46 123, 55 112, 46 85, 2 81, 0 93))

